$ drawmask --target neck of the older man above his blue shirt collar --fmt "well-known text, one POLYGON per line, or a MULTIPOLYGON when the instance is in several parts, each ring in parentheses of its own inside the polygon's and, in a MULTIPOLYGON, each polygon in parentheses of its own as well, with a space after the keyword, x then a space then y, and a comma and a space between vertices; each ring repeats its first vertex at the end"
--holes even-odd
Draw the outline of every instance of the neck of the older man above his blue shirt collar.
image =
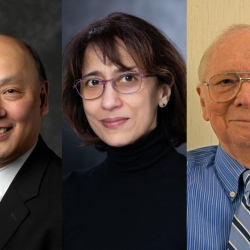
POLYGON ((221 143, 221 147, 243 167, 250 169, 250 147, 231 144, 230 146, 221 143))

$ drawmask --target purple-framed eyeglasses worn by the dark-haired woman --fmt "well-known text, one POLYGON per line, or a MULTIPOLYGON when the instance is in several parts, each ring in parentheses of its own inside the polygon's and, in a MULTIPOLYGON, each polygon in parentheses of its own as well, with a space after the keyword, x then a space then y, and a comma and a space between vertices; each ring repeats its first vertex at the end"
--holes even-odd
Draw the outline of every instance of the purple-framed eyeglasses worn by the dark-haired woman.
POLYGON ((144 75, 139 72, 125 72, 109 80, 101 80, 97 77, 86 76, 74 82, 73 88, 84 100, 93 100, 100 97, 107 82, 112 82, 115 91, 121 94, 132 94, 137 92, 142 83, 142 78, 153 77, 154 74, 144 75))

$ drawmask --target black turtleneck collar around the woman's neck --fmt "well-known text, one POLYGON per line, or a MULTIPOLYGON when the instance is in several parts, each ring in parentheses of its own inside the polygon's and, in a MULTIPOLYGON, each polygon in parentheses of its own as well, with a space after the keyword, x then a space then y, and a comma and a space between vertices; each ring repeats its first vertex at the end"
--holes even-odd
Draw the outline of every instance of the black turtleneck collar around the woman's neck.
MULTIPOLYGON (((138 143, 124 147, 108 147, 108 175, 122 178, 141 178, 158 172, 167 165, 166 157, 175 151, 157 127, 138 143)), ((166 166, 167 167, 167 166, 166 166)))

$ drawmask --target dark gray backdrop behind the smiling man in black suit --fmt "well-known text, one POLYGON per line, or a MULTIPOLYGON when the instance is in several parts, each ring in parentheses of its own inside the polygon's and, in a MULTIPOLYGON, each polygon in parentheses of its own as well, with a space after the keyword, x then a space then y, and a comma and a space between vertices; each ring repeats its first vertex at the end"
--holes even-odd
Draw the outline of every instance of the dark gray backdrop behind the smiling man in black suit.
POLYGON ((18 38, 40 55, 50 83, 50 112, 41 134, 48 146, 62 155, 61 0, 0 0, 0 33, 18 38))

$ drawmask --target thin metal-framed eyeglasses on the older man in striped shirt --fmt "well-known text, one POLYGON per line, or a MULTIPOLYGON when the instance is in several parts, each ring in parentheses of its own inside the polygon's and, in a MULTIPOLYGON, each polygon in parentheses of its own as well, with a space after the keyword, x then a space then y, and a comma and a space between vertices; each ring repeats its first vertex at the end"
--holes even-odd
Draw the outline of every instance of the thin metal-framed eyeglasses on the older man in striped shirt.
POLYGON ((250 74, 250 72, 227 72, 214 75, 208 83, 209 95, 215 102, 227 102, 232 100, 240 91, 244 81, 250 83, 250 78, 240 77, 240 75, 250 74))

